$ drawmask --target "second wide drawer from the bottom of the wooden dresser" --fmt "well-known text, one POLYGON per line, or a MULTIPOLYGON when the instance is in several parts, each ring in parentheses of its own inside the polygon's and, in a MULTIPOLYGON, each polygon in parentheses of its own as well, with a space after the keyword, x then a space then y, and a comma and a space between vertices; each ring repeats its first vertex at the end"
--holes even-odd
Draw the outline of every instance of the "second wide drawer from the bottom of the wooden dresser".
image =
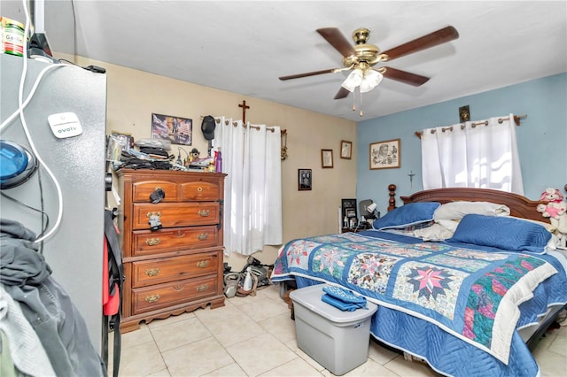
POLYGON ((219 252, 132 262, 132 287, 194 278, 219 270, 219 252))

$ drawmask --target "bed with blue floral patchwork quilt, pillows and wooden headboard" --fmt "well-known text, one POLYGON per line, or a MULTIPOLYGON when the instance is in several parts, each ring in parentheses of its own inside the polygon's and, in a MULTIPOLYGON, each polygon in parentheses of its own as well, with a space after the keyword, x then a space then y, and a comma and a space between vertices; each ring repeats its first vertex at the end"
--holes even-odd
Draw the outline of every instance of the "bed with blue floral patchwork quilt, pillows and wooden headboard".
POLYGON ((365 296, 379 305, 371 335, 438 373, 538 375, 530 349, 567 303, 567 259, 540 202, 440 188, 396 208, 389 190, 374 229, 287 242, 272 281, 365 296))

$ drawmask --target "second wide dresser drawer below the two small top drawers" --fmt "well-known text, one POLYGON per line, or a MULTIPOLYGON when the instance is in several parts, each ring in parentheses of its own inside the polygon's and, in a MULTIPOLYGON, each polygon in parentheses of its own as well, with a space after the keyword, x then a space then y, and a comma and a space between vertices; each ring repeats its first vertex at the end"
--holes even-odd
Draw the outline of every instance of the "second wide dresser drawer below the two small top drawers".
POLYGON ((155 232, 136 230, 132 233, 132 255, 139 257, 170 251, 210 248, 220 246, 219 242, 219 229, 216 225, 162 228, 155 232))

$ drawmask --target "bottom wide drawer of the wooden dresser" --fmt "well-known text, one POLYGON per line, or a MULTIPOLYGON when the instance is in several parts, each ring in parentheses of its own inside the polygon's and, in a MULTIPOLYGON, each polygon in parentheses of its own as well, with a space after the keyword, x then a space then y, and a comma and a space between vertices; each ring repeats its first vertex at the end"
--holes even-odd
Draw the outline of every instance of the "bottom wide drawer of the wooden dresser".
POLYGON ((217 281, 218 277, 214 275, 132 289, 133 312, 149 312, 214 296, 217 294, 217 281))

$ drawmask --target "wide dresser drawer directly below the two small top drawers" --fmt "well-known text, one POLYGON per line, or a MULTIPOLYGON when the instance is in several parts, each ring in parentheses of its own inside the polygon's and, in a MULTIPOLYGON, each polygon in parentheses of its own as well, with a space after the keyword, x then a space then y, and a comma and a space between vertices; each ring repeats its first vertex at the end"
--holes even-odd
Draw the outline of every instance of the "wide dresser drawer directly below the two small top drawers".
POLYGON ((219 222, 219 203, 133 204, 132 229, 149 229, 150 217, 159 216, 163 227, 212 225, 219 222))

